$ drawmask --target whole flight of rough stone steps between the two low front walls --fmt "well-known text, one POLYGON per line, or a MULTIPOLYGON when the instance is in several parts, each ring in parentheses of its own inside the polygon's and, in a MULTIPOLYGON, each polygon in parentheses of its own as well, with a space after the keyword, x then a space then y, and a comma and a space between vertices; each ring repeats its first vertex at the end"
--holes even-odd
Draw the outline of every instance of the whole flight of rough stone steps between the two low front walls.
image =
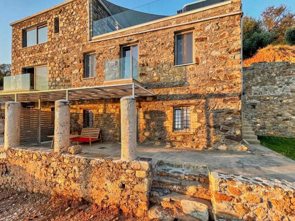
POLYGON ((158 161, 150 203, 151 219, 213 220, 207 166, 158 161))

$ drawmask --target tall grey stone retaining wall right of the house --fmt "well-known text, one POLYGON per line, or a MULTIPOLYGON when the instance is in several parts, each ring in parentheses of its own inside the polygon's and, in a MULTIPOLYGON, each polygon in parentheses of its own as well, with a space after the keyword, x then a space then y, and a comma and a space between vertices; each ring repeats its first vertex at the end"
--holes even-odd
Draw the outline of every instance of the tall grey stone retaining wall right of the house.
POLYGON ((262 62, 244 67, 243 115, 258 135, 295 136, 295 65, 262 62))

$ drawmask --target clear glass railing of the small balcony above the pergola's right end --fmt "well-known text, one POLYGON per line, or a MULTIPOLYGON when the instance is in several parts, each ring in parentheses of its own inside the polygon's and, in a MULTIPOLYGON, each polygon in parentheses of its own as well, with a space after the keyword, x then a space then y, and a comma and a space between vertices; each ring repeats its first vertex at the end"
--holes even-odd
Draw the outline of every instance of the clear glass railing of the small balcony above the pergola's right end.
POLYGON ((104 80, 119 80, 133 78, 139 80, 138 61, 134 57, 122 57, 105 61, 104 80))

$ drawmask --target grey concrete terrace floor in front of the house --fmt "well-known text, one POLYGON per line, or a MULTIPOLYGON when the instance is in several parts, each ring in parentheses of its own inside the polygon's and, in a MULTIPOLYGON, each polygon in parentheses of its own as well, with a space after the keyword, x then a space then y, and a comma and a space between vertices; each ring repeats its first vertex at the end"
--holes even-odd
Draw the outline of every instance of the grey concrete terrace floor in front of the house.
MULTIPOLYGON (((31 146, 21 146, 22 149, 40 149, 48 151, 51 141, 31 146)), ((74 142, 73 142, 73 145, 74 142)), ((80 156, 92 158, 120 159, 121 144, 109 142, 81 143, 83 153, 80 156)), ((276 153, 261 145, 250 145, 251 152, 219 151, 219 150, 187 150, 137 145, 140 157, 152 158, 153 164, 158 160, 172 162, 187 162, 207 165, 209 170, 244 175, 247 177, 273 178, 280 181, 295 182, 295 161, 276 153)))

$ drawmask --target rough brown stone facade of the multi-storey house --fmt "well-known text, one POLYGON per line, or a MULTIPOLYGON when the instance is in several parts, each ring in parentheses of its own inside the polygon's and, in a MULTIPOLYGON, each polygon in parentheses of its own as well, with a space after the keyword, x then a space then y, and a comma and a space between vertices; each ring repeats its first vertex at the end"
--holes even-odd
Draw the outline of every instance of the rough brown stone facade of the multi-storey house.
MULTIPOLYGON (((175 17, 117 35, 180 24, 240 11, 241 2, 175 17)), ((227 149, 241 136, 241 15, 186 24, 128 37, 88 42, 87 1, 68 1, 59 8, 12 24, 12 75, 23 67, 47 64, 48 89, 102 85, 105 61, 118 59, 122 45, 138 44, 140 83, 156 94, 136 98, 138 141, 188 149, 227 149), (60 33, 54 34, 54 18, 60 33), (48 42, 22 48, 22 30, 47 22, 48 42), (194 63, 174 67, 174 37, 194 31, 194 63), (131 41, 127 41, 131 39, 131 41), (96 77, 83 78, 84 54, 95 52, 96 77), (189 106, 191 129, 173 132, 173 107, 189 106)), ((116 36, 111 34, 109 37, 116 36)), ((97 40, 98 38, 96 38, 97 40)), ((53 104, 42 103, 42 109, 53 104)), ((73 101, 71 132, 83 127, 83 109, 94 110, 94 126, 104 141, 120 140, 119 99, 73 101)), ((233 148, 231 148, 233 149, 233 148)))

